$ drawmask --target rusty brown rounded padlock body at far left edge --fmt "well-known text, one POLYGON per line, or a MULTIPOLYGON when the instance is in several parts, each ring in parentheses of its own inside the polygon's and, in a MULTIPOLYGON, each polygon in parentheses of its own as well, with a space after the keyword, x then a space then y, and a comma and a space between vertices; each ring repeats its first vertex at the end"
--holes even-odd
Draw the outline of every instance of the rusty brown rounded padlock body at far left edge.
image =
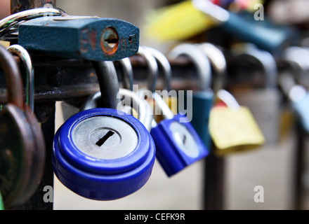
POLYGON ((29 199, 34 142, 25 113, 8 104, 0 113, 0 190, 6 208, 29 199))

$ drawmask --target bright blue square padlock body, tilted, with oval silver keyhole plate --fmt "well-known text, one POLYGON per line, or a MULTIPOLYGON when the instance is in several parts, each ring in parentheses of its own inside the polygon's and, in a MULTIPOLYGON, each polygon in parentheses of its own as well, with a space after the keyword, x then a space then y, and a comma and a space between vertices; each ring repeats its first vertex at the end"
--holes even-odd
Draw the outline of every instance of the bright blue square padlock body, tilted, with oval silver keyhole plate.
POLYGON ((155 141, 156 157, 168 176, 180 172, 188 165, 209 154, 208 149, 204 146, 190 122, 180 114, 174 116, 171 120, 162 120, 156 127, 152 128, 150 134, 155 141), (188 131, 190 138, 192 138, 187 137, 186 139, 192 141, 188 148, 181 147, 177 141, 177 131, 181 129, 188 131))

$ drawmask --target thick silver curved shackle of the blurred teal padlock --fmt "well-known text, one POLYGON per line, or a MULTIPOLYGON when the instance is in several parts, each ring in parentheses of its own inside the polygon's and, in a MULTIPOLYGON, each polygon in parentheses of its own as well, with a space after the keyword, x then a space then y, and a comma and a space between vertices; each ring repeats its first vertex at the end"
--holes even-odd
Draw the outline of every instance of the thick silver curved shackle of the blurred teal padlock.
POLYGON ((205 91, 211 88, 211 64, 201 49, 190 43, 183 43, 173 48, 169 54, 169 59, 185 56, 195 64, 197 76, 199 78, 198 90, 205 91))

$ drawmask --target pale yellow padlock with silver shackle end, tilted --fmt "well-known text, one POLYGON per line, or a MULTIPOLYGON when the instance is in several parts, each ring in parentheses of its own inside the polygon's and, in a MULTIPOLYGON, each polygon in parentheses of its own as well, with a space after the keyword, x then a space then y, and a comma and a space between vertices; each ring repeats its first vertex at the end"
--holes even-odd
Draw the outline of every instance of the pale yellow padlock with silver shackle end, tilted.
POLYGON ((265 139, 250 110, 239 106, 226 90, 219 90, 217 97, 227 106, 215 105, 210 111, 209 134, 214 153, 229 155, 261 147, 265 139))

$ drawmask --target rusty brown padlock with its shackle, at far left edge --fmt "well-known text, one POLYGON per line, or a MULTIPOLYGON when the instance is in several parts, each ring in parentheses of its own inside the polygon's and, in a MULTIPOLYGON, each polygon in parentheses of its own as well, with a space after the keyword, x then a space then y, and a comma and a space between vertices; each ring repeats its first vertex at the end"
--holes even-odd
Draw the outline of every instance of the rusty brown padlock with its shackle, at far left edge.
POLYGON ((22 79, 13 55, 0 45, 0 63, 6 76, 8 104, 0 113, 0 190, 6 208, 29 199, 34 136, 25 115, 22 79))

